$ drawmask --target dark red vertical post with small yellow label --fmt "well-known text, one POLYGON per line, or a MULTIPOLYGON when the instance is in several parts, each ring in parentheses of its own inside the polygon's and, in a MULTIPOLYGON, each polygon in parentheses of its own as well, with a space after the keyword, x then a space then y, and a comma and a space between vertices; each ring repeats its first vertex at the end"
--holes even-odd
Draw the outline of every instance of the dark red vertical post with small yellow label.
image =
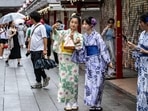
POLYGON ((116 76, 123 78, 122 71, 122 0, 116 0, 116 76))

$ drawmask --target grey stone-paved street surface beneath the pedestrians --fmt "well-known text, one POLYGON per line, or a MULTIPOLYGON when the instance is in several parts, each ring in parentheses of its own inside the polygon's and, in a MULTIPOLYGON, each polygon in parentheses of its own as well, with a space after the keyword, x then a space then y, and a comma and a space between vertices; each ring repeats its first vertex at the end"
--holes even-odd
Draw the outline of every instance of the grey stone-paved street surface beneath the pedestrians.
MULTIPOLYGON (((58 69, 46 70, 51 77, 50 84, 44 89, 31 89, 35 82, 29 57, 22 51, 23 67, 11 60, 6 67, 0 60, 0 111, 64 111, 64 104, 57 102, 58 69)), ((83 103, 84 72, 79 78, 79 111, 89 111, 83 103)), ((136 111, 136 100, 116 90, 106 82, 103 95, 103 111, 136 111)))

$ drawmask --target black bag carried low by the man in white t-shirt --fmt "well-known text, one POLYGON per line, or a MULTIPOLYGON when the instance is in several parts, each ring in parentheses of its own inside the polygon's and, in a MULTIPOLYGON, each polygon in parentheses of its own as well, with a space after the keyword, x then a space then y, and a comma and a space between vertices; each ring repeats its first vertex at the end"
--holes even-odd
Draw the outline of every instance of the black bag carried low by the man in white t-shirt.
POLYGON ((46 59, 44 57, 38 59, 35 63, 35 69, 51 69, 56 67, 57 64, 52 59, 46 59))

